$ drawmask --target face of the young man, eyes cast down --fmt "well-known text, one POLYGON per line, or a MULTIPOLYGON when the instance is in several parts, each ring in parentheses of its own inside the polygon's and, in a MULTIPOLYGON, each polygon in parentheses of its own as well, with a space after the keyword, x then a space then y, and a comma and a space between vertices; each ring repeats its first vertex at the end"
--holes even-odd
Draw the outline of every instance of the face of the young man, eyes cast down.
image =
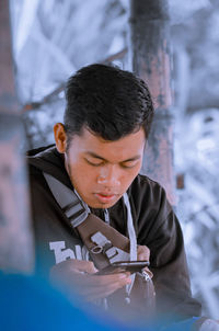
POLYGON ((141 168, 145 139, 142 128, 116 141, 106 141, 85 128, 72 137, 65 164, 90 207, 108 208, 123 196, 141 168))

